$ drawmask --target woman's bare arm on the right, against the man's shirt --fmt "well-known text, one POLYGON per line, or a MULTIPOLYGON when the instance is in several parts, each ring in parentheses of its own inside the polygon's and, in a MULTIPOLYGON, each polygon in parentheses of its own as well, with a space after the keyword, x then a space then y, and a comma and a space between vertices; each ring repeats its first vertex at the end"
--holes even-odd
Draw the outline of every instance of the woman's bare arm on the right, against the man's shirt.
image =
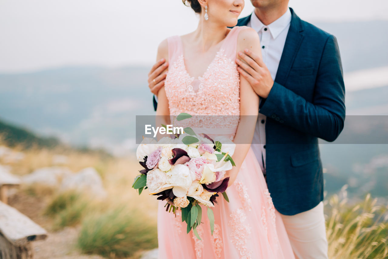
MULTIPOLYGON (((252 28, 244 28, 239 32, 237 40, 237 58, 238 52, 243 52, 244 49, 250 49, 254 53, 262 56, 260 50, 260 39, 258 34, 252 28)), ((249 73, 249 71, 247 71, 249 73)), ((236 166, 229 171, 229 186, 236 180, 237 173, 241 168, 241 164, 248 153, 249 147, 255 132, 255 126, 259 111, 259 96, 255 93, 248 81, 240 75, 240 122, 237 126, 234 143, 236 149, 232 156, 236 166)))

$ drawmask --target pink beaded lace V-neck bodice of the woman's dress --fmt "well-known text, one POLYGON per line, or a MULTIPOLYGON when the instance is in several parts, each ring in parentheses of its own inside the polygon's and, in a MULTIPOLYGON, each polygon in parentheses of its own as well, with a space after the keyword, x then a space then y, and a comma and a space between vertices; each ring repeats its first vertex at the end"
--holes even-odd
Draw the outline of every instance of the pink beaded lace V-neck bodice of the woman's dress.
POLYGON ((234 59, 241 28, 236 26, 230 30, 206 72, 198 79, 187 72, 180 36, 167 39, 170 66, 165 91, 174 125, 200 128, 207 134, 213 129, 217 135, 234 137, 240 115, 240 80, 234 59), (193 117, 177 122, 176 115, 182 112, 193 117))

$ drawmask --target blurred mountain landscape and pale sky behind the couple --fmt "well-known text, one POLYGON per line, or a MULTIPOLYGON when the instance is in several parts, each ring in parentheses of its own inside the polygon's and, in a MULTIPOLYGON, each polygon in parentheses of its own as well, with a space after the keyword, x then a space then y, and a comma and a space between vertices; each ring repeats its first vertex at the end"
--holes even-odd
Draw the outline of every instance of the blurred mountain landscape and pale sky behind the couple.
MULTIPOLYGON (((289 6, 337 37, 346 115, 385 118, 388 1, 289 6)), ((240 17, 252 10, 245 0, 240 17)), ((0 188, 8 186, 7 203, 47 231, 32 242, 35 258, 155 257, 157 203, 131 188, 140 169, 135 115, 154 114, 147 73, 159 42, 196 26, 181 0, 0 1, 0 188)), ((372 134, 362 120, 355 127, 372 134)), ((386 224, 388 145, 381 143, 320 144, 331 258, 386 258, 388 231, 379 224, 386 224), (354 219, 363 225, 343 229, 354 219), (349 236, 357 241, 347 243, 349 236)))

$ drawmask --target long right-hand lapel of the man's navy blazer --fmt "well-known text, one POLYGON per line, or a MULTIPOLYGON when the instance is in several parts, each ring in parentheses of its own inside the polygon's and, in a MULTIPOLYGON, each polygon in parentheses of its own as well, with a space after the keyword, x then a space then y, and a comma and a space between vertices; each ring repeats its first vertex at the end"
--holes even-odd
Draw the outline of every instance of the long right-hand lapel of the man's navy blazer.
POLYGON ((300 44, 303 39, 303 26, 300 18, 295 14, 294 10, 291 10, 291 23, 284 44, 282 56, 280 58, 279 67, 275 77, 275 82, 284 85, 286 82, 288 73, 294 62, 296 54, 298 53, 300 44))

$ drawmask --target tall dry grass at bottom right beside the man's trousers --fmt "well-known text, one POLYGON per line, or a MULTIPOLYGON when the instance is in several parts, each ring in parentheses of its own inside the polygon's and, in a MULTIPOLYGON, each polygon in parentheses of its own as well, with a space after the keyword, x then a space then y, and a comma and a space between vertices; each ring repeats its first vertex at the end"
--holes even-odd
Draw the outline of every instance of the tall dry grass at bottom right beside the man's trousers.
POLYGON ((367 194, 365 200, 347 205, 346 186, 340 196, 333 195, 326 204, 330 211, 327 225, 329 258, 388 258, 388 206, 377 206, 377 199, 367 194))

